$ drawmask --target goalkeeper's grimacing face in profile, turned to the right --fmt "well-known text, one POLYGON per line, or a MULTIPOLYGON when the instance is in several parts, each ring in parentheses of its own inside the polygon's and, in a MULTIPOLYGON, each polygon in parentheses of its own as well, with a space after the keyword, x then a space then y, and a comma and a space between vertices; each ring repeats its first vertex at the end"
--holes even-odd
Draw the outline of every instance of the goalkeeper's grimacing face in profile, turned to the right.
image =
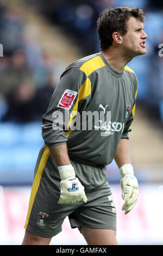
POLYGON ((135 17, 130 17, 127 22, 127 33, 122 35, 122 51, 130 57, 145 54, 145 39, 148 37, 143 31, 143 23, 135 17))

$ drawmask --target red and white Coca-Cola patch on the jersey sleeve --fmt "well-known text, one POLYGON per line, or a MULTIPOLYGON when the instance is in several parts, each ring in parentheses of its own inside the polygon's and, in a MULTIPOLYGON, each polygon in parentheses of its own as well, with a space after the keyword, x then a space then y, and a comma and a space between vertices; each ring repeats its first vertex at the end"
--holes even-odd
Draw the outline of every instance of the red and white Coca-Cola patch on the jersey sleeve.
POLYGON ((74 92, 73 90, 66 89, 65 92, 62 94, 57 107, 70 109, 77 94, 78 93, 74 92))

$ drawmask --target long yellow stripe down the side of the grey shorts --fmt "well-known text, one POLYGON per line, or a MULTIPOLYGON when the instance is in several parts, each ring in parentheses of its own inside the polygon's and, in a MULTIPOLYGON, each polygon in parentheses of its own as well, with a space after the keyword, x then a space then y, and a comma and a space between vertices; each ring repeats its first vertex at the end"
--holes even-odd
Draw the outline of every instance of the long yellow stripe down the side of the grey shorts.
POLYGON ((42 172, 43 172, 43 168, 45 167, 45 164, 48 160, 50 151, 48 149, 48 147, 45 148, 45 150, 43 151, 41 160, 40 160, 40 164, 39 167, 37 169, 37 173, 33 182, 33 186, 32 186, 32 191, 30 194, 30 200, 29 200, 29 207, 28 207, 28 213, 27 213, 27 218, 26 218, 26 223, 24 225, 24 228, 27 228, 28 226, 28 222, 29 222, 29 217, 30 217, 30 212, 32 211, 32 206, 34 203, 34 199, 37 193, 37 190, 39 188, 40 185, 40 180, 41 180, 41 176, 42 176, 42 172))

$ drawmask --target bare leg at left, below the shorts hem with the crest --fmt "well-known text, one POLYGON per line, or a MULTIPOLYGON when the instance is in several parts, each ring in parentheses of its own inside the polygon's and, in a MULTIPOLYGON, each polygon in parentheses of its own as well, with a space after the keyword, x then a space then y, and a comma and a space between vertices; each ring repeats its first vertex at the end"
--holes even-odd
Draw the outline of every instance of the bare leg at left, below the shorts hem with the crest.
POLYGON ((26 229, 22 245, 49 245, 52 238, 36 235, 26 229))

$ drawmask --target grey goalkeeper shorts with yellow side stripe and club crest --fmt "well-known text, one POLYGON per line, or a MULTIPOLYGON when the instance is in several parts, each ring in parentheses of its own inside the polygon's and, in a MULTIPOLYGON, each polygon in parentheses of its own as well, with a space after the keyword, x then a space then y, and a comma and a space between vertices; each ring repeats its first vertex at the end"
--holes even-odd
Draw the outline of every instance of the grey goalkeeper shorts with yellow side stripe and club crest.
POLYGON ((58 168, 43 145, 37 158, 24 228, 32 233, 53 237, 61 232, 66 216, 72 228, 89 227, 116 230, 116 211, 108 184, 106 167, 93 167, 71 161, 76 176, 85 187, 87 203, 58 204, 58 168))

